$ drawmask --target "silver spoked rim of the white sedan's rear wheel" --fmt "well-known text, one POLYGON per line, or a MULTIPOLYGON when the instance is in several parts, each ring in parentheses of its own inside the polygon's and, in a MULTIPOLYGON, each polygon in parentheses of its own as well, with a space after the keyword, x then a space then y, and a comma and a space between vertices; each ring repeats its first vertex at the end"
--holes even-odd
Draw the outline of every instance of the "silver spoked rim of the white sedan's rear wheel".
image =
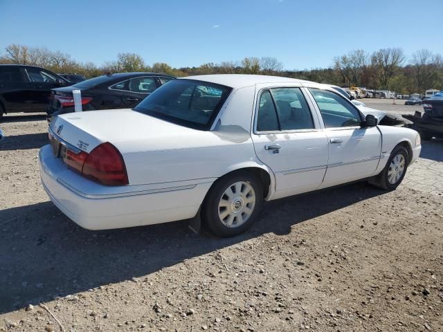
POLYGON ((238 181, 230 185, 221 195, 218 214, 223 225, 236 228, 246 223, 255 208, 255 191, 252 185, 238 181))

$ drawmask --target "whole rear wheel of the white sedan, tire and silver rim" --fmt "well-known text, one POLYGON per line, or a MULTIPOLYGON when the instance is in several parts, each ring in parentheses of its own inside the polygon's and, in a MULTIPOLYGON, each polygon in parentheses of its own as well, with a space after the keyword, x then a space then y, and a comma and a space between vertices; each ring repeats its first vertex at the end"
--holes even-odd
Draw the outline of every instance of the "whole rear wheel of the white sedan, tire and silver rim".
POLYGON ((233 237, 251 227, 262 206, 260 179, 248 172, 238 172, 214 184, 204 203, 202 218, 215 235, 233 237))

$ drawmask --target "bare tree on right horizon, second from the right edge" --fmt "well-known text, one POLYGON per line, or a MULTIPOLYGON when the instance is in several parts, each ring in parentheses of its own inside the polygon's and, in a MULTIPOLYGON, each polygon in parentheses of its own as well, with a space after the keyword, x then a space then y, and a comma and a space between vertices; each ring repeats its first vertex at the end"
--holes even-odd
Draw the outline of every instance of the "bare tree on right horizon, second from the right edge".
POLYGON ((372 64, 377 68, 377 78, 382 89, 388 87, 388 80, 399 71, 405 59, 401 48, 382 48, 372 54, 372 64))

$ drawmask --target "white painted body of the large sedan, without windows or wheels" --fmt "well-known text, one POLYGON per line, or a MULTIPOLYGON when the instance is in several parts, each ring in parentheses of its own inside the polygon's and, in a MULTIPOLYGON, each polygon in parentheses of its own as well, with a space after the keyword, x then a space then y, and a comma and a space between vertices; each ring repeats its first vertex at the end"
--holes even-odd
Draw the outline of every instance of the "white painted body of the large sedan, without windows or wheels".
MULTIPOLYGON (((213 183, 237 169, 256 167, 269 174, 266 200, 272 200, 378 174, 400 142, 410 145, 412 161, 420 151, 420 146, 415 147, 417 133, 411 129, 325 129, 306 89, 336 93, 323 84, 257 75, 187 78, 233 88, 208 131, 129 109, 68 113, 51 122, 60 140, 87 153, 110 142, 122 154, 129 178, 129 185, 100 185, 67 169, 51 147, 43 147, 39 154, 42 183, 62 212, 93 230, 188 219, 197 214, 213 183), (282 86, 300 87, 314 129, 255 132, 260 91, 282 86), (342 142, 332 143, 334 139, 342 142), (265 149, 275 143, 281 145, 280 153, 265 149)), ((358 108, 363 114, 377 111, 358 108)))

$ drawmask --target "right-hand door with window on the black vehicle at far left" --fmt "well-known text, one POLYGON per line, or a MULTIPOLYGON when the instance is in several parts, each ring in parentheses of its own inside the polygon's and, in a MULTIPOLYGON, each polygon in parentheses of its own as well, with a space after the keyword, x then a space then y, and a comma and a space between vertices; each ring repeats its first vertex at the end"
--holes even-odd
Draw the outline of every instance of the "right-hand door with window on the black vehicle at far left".
POLYGON ((26 73, 30 80, 28 93, 32 100, 33 112, 45 112, 49 106, 51 89, 62 86, 59 77, 38 67, 26 67, 26 73))

